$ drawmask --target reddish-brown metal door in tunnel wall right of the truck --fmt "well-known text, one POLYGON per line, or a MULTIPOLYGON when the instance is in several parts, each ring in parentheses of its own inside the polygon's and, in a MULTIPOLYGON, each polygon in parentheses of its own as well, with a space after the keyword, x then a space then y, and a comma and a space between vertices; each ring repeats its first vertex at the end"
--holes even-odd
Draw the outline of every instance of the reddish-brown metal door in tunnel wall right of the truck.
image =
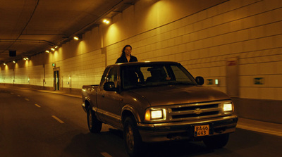
POLYGON ((238 58, 226 58, 226 92, 231 97, 239 96, 238 58))

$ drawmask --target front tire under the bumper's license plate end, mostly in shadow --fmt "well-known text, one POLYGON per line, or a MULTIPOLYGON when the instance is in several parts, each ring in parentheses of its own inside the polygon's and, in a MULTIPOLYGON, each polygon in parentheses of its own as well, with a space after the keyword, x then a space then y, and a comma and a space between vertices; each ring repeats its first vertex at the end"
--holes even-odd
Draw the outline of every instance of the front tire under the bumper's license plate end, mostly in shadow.
POLYGON ((226 146, 229 140, 229 134, 219 134, 212 137, 207 137, 204 139, 204 144, 210 149, 221 149, 226 146))

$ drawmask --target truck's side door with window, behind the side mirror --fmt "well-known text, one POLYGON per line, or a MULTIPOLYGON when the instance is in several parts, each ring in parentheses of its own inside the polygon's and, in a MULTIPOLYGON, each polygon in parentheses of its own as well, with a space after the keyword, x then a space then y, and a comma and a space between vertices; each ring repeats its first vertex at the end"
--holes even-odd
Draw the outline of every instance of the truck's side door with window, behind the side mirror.
MULTIPOLYGON (((114 82, 115 86, 118 87, 118 68, 113 67, 109 70, 106 76, 105 82, 114 82)), ((104 91, 102 83, 100 89, 97 92, 97 105, 102 113, 103 120, 105 123, 111 125, 117 125, 121 123, 121 95, 114 91, 104 91)))

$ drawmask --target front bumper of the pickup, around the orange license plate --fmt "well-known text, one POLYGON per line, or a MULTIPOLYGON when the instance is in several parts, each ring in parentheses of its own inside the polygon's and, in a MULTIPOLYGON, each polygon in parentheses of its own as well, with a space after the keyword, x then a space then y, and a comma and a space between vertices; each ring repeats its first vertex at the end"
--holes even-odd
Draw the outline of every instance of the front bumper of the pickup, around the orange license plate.
POLYGON ((165 142, 179 139, 192 140, 204 138, 194 137, 195 125, 209 125, 208 136, 235 132, 237 121, 237 115, 228 115, 224 117, 173 123, 137 123, 137 127, 143 142, 165 142))

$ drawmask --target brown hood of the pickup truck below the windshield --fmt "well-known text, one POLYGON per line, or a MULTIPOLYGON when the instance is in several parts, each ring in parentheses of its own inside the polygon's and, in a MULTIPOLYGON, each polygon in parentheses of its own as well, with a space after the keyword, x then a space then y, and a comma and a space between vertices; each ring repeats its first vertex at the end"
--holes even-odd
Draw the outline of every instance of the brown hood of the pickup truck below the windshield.
POLYGON ((146 87, 142 89, 134 89, 132 92, 135 92, 144 99, 147 99, 151 106, 174 105, 180 103, 200 103, 204 101, 230 99, 223 92, 217 91, 210 87, 190 85, 146 87))

